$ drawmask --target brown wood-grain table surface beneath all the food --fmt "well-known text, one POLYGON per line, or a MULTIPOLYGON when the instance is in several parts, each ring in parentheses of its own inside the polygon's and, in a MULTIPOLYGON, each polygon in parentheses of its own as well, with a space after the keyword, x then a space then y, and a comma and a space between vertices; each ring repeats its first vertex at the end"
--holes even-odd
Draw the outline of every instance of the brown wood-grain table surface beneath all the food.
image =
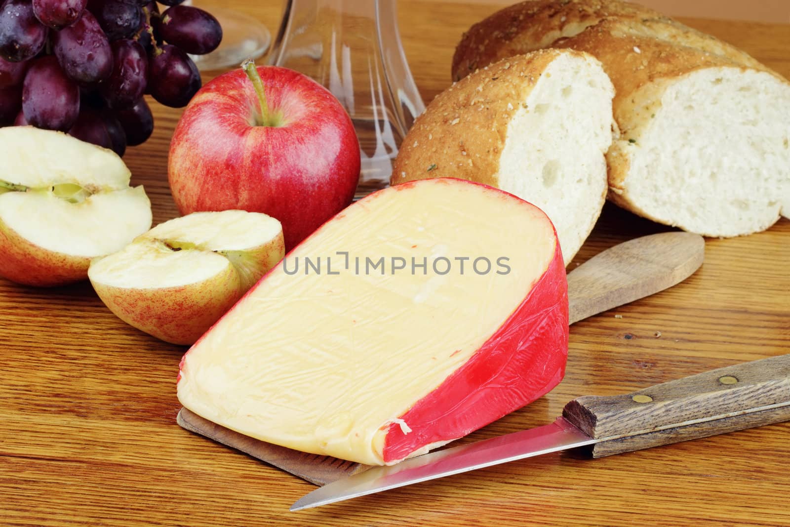
MULTIPOLYGON (((279 2, 222 3, 270 28, 280 16, 279 2)), ((400 5, 406 54, 430 100, 450 83, 461 32, 495 6, 400 5)), ((687 23, 790 76, 790 26, 687 23)), ((125 160, 156 223, 176 216, 166 160, 180 112, 154 111, 154 137, 125 160)), ((577 262, 661 230, 608 205, 577 262)), ((470 438, 548 423, 579 395, 790 353, 790 221, 709 239, 706 250, 685 283, 573 326, 562 384, 470 438)), ((89 284, 0 279, 0 524, 790 525, 790 423, 598 460, 548 455, 289 513, 312 485, 176 425, 184 351, 126 326, 89 284)))

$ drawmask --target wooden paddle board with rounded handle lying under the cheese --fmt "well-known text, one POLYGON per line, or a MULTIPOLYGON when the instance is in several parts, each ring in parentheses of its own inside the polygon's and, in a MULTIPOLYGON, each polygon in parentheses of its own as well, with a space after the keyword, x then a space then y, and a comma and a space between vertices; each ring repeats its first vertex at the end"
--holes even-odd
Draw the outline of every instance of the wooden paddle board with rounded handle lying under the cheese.
MULTIPOLYGON (((568 273, 570 323, 679 284, 702 265, 704 254, 702 236, 687 232, 642 236, 596 254, 568 273)), ((181 409, 176 422, 188 431, 319 486, 370 468, 337 457, 263 442, 206 420, 186 408, 181 409)))

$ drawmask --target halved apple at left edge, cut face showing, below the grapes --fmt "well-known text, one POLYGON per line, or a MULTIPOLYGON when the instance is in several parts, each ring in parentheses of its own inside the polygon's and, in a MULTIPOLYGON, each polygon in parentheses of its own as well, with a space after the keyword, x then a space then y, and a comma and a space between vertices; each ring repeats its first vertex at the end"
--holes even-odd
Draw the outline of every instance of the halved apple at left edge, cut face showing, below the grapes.
POLYGON ((62 285, 151 228, 151 202, 112 150, 32 126, 0 128, 0 277, 62 285))

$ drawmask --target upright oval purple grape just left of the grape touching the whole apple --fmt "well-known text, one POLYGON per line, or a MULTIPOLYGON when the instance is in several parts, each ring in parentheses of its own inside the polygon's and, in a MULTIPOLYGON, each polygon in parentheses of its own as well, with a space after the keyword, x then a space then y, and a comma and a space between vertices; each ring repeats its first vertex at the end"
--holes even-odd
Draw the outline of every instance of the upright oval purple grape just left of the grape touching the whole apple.
POLYGON ((141 43, 131 40, 115 40, 111 44, 113 66, 107 81, 100 85, 107 106, 114 110, 125 110, 143 96, 148 81, 148 58, 141 43))

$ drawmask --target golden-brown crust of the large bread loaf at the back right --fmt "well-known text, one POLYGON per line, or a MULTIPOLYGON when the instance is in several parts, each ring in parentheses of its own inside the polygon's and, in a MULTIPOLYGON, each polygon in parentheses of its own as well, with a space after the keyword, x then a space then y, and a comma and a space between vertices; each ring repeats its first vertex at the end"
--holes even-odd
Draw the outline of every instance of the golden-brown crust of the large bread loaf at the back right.
MULTIPOLYGON (((621 139, 607 154, 615 204, 664 224, 630 199, 630 149, 660 108, 672 82, 705 68, 728 67, 781 75, 738 48, 652 9, 619 0, 530 0, 502 9, 465 32, 453 57, 453 78, 509 55, 565 47, 595 56, 615 85, 615 122, 621 139)), ((705 233, 703 233, 705 234, 705 233)))

